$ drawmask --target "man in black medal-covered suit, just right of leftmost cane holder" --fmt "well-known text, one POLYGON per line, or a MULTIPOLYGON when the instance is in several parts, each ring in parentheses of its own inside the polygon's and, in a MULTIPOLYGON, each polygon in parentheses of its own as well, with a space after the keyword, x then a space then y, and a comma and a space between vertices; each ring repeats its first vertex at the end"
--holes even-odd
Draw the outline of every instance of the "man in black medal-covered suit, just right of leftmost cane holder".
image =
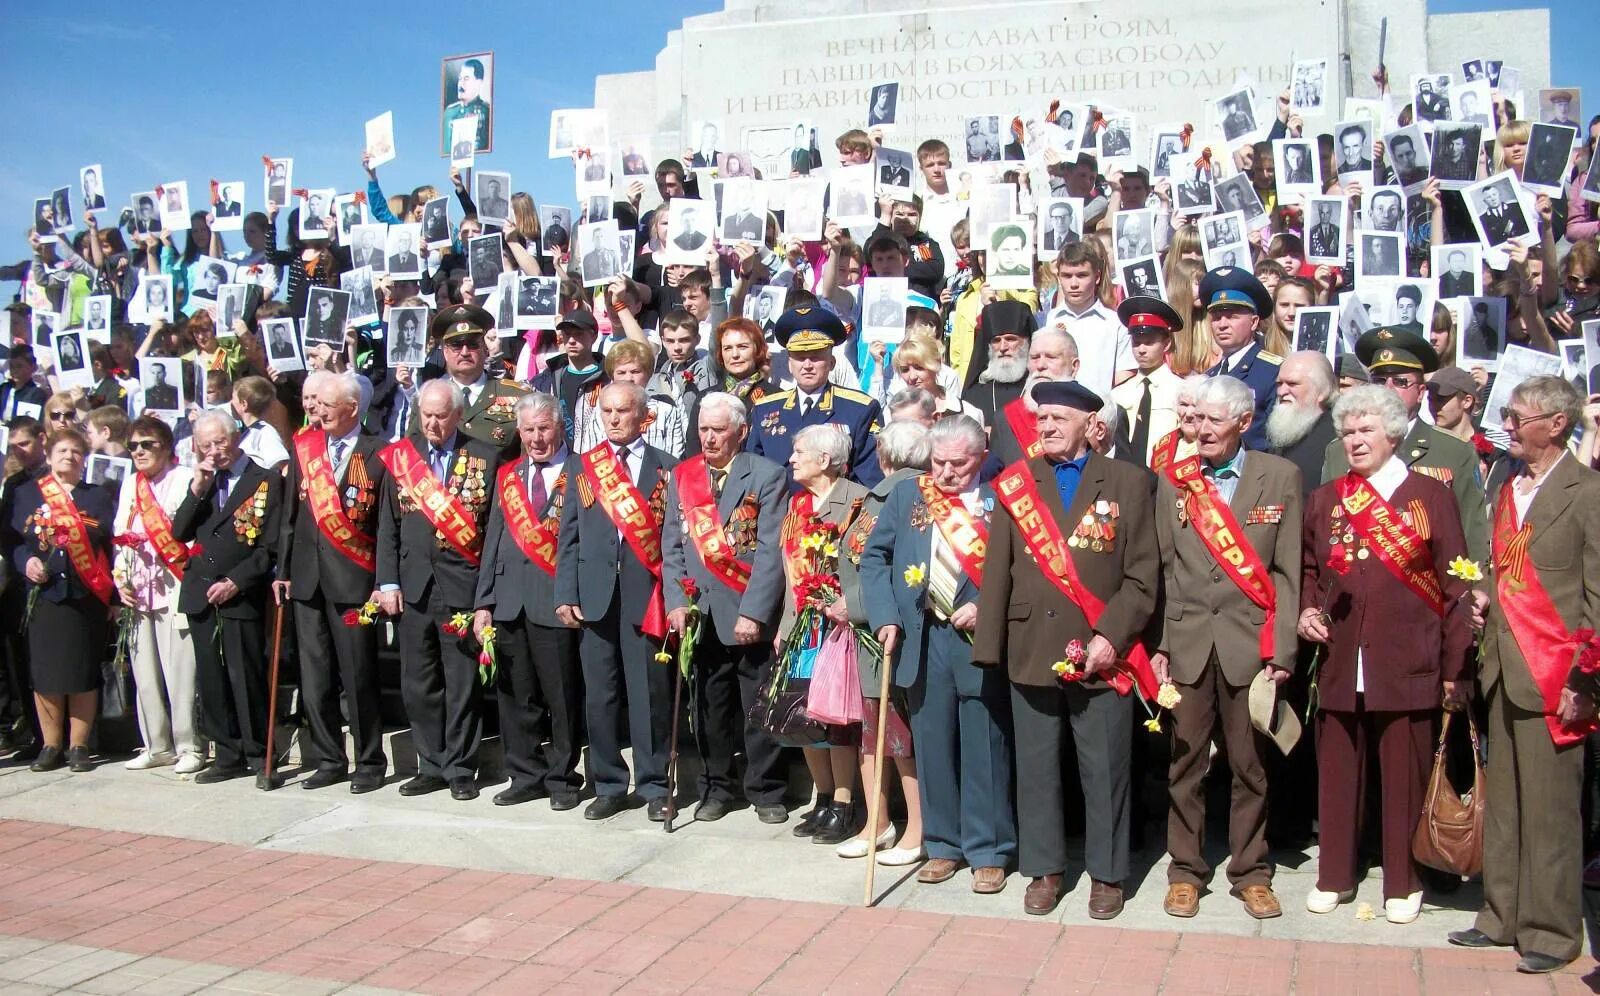
POLYGON ((416 392, 422 431, 378 458, 387 471, 378 512, 378 607, 398 616, 400 695, 416 745, 402 796, 450 788, 478 797, 478 647, 466 625, 477 592, 490 482, 499 447, 459 432, 466 397, 448 380, 416 392), (459 621, 458 621, 459 616, 459 621))

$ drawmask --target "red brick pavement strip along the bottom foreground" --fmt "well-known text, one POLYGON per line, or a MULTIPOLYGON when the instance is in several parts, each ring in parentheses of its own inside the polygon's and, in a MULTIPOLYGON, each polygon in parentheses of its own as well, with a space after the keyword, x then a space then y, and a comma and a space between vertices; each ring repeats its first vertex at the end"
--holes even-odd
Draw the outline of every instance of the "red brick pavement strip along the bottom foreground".
POLYGON ((1589 993, 1507 951, 1062 927, 0 821, 0 934, 421 993, 1589 993))

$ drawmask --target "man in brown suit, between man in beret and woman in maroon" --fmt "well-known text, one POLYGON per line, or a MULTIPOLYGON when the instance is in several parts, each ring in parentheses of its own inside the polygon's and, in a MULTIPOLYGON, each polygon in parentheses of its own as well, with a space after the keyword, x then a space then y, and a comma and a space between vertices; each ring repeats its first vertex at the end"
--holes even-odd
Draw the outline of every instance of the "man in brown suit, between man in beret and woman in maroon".
POLYGON ((1205 777, 1221 735, 1234 777, 1227 879, 1256 919, 1282 916, 1267 860, 1267 772, 1262 737, 1250 722, 1253 685, 1280 685, 1294 668, 1299 612, 1299 469, 1248 452, 1250 386, 1216 376, 1195 392, 1200 452, 1166 468, 1155 485, 1165 618, 1157 681, 1181 695, 1173 709, 1168 772, 1166 902, 1170 916, 1200 911, 1205 860, 1205 777))

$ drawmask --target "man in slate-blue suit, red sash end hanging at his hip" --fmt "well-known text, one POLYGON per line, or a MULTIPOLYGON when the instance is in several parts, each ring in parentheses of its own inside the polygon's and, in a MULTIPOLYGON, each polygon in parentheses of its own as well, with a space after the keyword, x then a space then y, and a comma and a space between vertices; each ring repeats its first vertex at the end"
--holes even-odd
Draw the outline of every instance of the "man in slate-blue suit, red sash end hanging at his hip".
POLYGON ((595 801, 586 820, 627 809, 629 770, 618 735, 627 724, 634 791, 653 821, 666 817, 672 668, 654 661, 667 634, 661 520, 677 463, 643 440, 650 397, 638 384, 600 389, 606 440, 566 461, 568 496, 555 557, 555 615, 582 628, 584 714, 595 801), (626 700, 626 714, 624 714, 626 700))

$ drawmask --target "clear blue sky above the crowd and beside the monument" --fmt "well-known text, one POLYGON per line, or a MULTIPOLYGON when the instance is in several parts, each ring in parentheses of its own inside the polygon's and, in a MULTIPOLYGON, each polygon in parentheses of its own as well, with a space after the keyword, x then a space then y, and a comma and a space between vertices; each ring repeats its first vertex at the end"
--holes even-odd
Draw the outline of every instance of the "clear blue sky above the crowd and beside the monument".
MULTIPOLYGON (((1549 6, 1555 82, 1582 86, 1584 112, 1594 114, 1600 67, 1592 5, 1434 0, 1430 10, 1549 6)), ((85 0, 70 16, 50 5, 8 6, 0 93, 11 94, 11 135, 0 152, 0 259, 14 261, 27 255, 22 232, 34 199, 75 186, 78 167, 104 163, 114 205, 173 179, 187 179, 197 197, 216 178, 245 179, 245 205, 258 210, 262 155, 294 157, 294 186, 365 186, 362 127, 384 110, 394 110, 400 152, 379 171, 384 189, 448 186, 437 149, 438 62, 482 50, 496 54, 494 152, 480 157, 482 168, 509 170, 514 187, 541 202, 571 202, 571 167, 546 155, 550 110, 589 106, 595 74, 651 67, 667 30, 722 3, 85 0)), ((117 211, 107 215, 102 223, 114 223, 117 211)))

